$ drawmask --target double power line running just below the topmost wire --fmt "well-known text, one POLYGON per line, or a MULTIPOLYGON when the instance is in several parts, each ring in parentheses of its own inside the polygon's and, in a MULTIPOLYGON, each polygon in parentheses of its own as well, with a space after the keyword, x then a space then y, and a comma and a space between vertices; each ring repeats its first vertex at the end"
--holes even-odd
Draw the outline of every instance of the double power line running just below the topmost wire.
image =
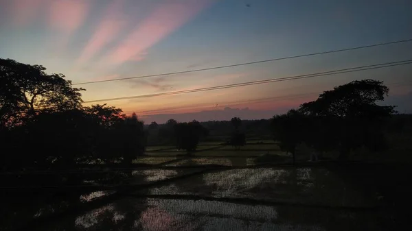
POLYGON ((284 82, 284 81, 289 81, 289 80, 301 80, 304 78, 311 78, 311 77, 319 77, 319 76, 324 76, 324 75, 336 75, 336 74, 341 74, 341 73, 352 73, 352 72, 357 72, 357 71, 367 71, 367 70, 372 70, 372 69, 381 69, 381 68, 386 68, 390 66, 400 66, 400 65, 405 65, 405 64, 412 64, 412 60, 402 60, 402 61, 397 61, 397 62, 385 62, 381 64, 372 64, 372 65, 367 65, 367 66, 356 66, 352 68, 347 68, 347 69, 339 69, 339 70, 334 70, 334 71, 324 71, 324 72, 319 72, 319 73, 311 73, 311 74, 306 74, 306 75, 294 75, 290 77, 281 77, 281 78, 274 78, 274 79, 268 79, 268 80, 257 80, 257 81, 252 81, 252 82, 243 82, 243 83, 238 83, 238 84, 227 84, 227 85, 221 85, 221 86, 212 86, 208 88, 196 88, 196 89, 191 89, 191 90, 178 90, 174 92, 169 92, 169 93, 157 93, 157 94, 149 94, 149 95, 135 95, 135 96, 128 96, 128 97, 115 97, 115 98, 109 98, 109 99, 95 99, 95 100, 90 100, 90 101, 84 101, 84 103, 95 103, 95 102, 101 102, 101 101, 115 101, 115 100, 122 100, 122 99, 137 99, 137 98, 147 98, 147 97, 157 97, 157 96, 165 96, 165 95, 180 95, 180 94, 185 94, 185 93, 197 93, 197 92, 202 92, 202 91, 207 91, 207 90, 219 90, 219 89, 226 89, 226 88, 235 88, 239 86, 250 86, 250 85, 255 85, 255 84, 267 84, 271 82, 284 82))

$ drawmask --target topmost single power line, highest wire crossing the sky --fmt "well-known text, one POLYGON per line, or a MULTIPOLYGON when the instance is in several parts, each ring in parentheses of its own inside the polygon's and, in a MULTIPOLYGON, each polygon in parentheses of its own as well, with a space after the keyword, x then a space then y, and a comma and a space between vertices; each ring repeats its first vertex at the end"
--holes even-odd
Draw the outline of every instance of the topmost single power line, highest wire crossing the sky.
POLYGON ((393 41, 393 42, 383 42, 383 43, 378 43, 374 45, 366 45, 366 46, 361 46, 361 47, 350 47, 350 48, 345 48, 345 49, 337 49, 337 50, 332 50, 332 51, 323 51, 323 52, 317 52, 317 53, 307 53, 304 55, 299 55, 299 56, 288 56, 288 57, 283 57, 283 58, 273 58, 270 60, 260 60, 260 61, 255 61, 255 62, 244 62, 240 64, 231 64, 227 66, 214 66, 214 67, 209 67, 205 69, 195 69, 195 70, 190 70, 190 71, 176 71, 176 72, 170 72, 170 73, 161 73, 161 74, 155 74, 155 75, 141 75, 141 76, 136 76, 136 77, 124 77, 124 78, 119 78, 119 79, 112 79, 112 80, 97 80, 97 81, 90 81, 90 82, 80 82, 72 85, 81 85, 81 84, 96 84, 96 83, 101 83, 101 82, 114 82, 114 81, 120 81, 120 80, 133 80, 133 79, 139 79, 139 78, 145 78, 145 77, 158 77, 158 76, 163 76, 163 75, 176 75, 176 74, 185 74, 185 73, 193 73, 193 72, 199 72, 199 71, 210 71, 210 70, 216 70, 216 69, 225 69, 229 67, 234 67, 234 66, 244 66, 244 65, 250 65, 250 64, 258 64, 258 63, 263 63, 263 62, 274 62, 274 61, 279 61, 279 60, 288 60, 288 59, 293 59, 293 58, 302 58, 302 57, 308 57, 308 56, 318 56, 318 55, 323 55, 327 53, 336 53, 336 52, 342 52, 342 51, 353 51, 357 49, 365 49, 365 48, 370 48, 370 47, 380 47, 380 46, 385 46, 385 45, 392 45, 396 43, 401 43, 401 42, 411 42, 412 38, 406 39, 406 40, 398 40, 398 41, 393 41))

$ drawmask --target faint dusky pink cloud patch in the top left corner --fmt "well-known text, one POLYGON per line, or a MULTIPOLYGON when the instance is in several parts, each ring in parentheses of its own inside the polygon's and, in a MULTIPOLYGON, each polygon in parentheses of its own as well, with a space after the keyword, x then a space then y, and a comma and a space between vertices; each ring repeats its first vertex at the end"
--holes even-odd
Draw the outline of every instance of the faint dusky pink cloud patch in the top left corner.
POLYGON ((16 25, 27 25, 32 22, 41 10, 45 0, 13 0, 12 17, 16 25))

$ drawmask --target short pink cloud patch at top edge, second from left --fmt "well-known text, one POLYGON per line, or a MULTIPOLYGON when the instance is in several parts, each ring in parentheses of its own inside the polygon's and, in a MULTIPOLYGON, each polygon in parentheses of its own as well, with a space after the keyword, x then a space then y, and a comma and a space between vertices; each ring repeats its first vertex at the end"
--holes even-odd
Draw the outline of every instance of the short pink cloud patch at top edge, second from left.
POLYGON ((54 0, 49 2, 49 24, 63 32, 71 33, 86 19, 89 0, 54 0))

